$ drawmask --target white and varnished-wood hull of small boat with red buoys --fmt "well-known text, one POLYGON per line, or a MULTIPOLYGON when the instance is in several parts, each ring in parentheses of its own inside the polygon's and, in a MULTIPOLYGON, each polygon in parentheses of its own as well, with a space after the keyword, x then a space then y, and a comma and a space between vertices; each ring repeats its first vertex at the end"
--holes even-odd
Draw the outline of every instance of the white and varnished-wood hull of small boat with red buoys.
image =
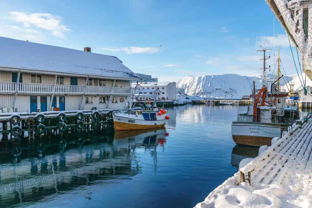
MULTIPOLYGON (((164 117, 164 116, 163 116, 164 117)), ((141 120, 136 119, 133 115, 118 116, 114 115, 115 131, 128 131, 128 130, 140 130, 149 128, 160 128, 166 124, 166 119, 161 120, 141 120)))

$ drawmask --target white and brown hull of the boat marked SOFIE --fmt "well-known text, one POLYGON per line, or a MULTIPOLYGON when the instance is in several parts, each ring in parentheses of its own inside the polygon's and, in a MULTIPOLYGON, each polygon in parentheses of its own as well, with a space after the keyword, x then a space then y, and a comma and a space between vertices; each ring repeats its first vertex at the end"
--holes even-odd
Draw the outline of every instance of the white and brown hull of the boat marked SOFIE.
POLYGON ((286 124, 281 123, 249 123, 233 122, 232 138, 236 144, 247 146, 271 146, 274 137, 281 137, 287 130, 286 124))

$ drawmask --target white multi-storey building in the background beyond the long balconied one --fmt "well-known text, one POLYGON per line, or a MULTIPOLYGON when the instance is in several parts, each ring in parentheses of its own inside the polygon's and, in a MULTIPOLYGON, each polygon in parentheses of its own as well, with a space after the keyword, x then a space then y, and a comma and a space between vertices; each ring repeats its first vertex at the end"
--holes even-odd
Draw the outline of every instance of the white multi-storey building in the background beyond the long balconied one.
MULTIPOLYGON (((140 91, 142 91, 142 94, 144 93, 152 93, 156 90, 156 99, 157 100, 175 100, 175 90, 176 90, 176 82, 145 82, 145 83, 139 83, 138 89, 135 94, 139 94, 140 91), (150 91, 146 91, 150 90, 150 91)), ((135 88, 136 83, 132 83, 132 87, 135 88)), ((151 94, 151 95, 152 95, 151 94)))

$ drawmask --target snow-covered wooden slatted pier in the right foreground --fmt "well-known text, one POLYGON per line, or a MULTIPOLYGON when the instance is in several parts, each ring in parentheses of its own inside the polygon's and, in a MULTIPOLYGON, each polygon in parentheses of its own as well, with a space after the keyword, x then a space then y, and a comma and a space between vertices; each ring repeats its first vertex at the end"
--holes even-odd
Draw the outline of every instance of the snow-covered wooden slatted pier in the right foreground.
POLYGON ((312 207, 311 115, 296 123, 196 207, 312 207))

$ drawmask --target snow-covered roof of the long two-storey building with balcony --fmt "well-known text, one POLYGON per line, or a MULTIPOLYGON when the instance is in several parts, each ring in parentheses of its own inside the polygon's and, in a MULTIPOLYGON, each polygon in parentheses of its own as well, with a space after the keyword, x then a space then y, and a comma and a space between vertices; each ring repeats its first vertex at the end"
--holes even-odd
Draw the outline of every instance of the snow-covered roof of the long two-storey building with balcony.
POLYGON ((141 80, 115 56, 0 37, 0 67, 46 74, 141 80))

